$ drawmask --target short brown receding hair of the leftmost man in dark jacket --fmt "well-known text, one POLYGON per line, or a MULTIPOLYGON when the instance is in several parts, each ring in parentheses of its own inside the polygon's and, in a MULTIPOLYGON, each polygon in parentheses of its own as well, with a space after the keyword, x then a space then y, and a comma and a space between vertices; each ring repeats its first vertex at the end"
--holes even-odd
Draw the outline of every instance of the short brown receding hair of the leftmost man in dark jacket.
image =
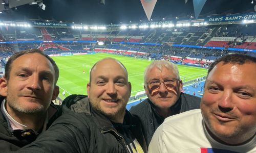
POLYGON ((54 84, 56 85, 58 78, 59 78, 59 68, 57 66, 57 64, 55 63, 55 61, 50 58, 47 54, 45 54, 44 52, 42 52, 40 49, 28 49, 28 50, 23 50, 20 52, 17 52, 15 54, 13 54, 9 60, 7 61, 6 65, 5 65, 5 78, 7 80, 10 79, 10 71, 12 68, 12 63, 13 61, 15 61, 18 57, 26 55, 26 54, 34 54, 34 53, 38 53, 44 57, 46 57, 52 64, 53 68, 54 68, 54 73, 55 73, 55 82, 54 84))

